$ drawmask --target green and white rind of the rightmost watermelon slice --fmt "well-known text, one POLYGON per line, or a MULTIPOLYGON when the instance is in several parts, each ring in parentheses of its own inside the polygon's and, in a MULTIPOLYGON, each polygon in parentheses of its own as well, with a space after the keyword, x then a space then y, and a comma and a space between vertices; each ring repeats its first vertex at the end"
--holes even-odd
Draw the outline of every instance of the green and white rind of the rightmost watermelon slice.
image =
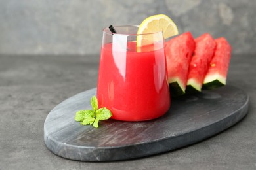
POLYGON ((207 75, 203 81, 203 89, 212 90, 226 85, 226 78, 219 74, 207 75))

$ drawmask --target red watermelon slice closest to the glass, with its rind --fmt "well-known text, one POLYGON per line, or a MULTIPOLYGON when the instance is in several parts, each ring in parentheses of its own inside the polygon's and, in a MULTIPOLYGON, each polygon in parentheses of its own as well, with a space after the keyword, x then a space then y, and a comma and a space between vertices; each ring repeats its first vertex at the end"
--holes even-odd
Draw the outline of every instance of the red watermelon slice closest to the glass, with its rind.
POLYGON ((190 32, 182 33, 165 43, 168 82, 172 97, 185 93, 188 67, 194 49, 195 42, 190 32))

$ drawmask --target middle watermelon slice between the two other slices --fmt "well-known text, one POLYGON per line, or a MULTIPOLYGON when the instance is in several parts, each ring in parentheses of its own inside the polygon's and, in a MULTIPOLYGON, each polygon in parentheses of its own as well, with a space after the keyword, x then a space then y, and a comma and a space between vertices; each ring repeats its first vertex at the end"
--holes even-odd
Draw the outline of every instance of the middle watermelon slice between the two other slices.
POLYGON ((196 48, 188 70, 186 93, 201 92, 203 80, 215 52, 216 42, 209 33, 195 39, 196 48))

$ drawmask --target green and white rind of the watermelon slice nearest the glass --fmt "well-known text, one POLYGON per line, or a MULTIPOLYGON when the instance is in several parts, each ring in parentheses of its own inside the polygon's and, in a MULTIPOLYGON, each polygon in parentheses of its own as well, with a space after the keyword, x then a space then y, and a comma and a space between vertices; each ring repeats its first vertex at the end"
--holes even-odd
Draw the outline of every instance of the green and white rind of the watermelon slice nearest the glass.
POLYGON ((169 82, 171 97, 177 97, 185 93, 186 86, 182 87, 180 78, 178 77, 168 78, 168 82, 169 82))

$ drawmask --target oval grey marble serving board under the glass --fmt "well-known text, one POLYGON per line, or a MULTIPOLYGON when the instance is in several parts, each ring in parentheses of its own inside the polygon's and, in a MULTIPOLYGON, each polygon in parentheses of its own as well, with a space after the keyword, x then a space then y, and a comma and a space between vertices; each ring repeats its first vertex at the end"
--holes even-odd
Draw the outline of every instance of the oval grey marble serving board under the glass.
POLYGON ((96 88, 66 99, 48 114, 44 140, 54 154, 79 161, 140 158, 197 143, 236 124, 247 114, 249 97, 224 86, 171 99, 171 108, 145 122, 104 120, 98 129, 75 122, 75 112, 91 109, 96 88))

